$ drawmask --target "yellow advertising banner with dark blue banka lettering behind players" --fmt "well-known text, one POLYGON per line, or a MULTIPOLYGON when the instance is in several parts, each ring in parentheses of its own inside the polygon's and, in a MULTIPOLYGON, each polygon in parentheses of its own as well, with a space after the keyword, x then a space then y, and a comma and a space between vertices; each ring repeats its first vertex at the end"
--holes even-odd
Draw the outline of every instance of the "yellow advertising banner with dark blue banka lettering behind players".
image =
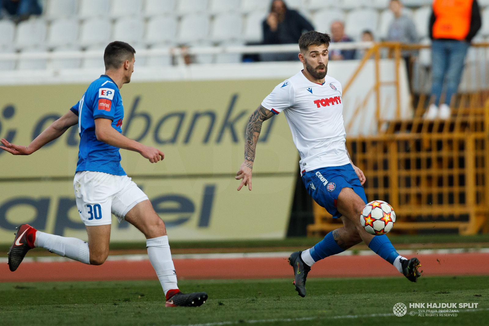
MULTIPOLYGON (((121 89, 123 133, 165 153, 149 163, 121 150, 122 167, 152 201, 172 240, 285 236, 298 154, 285 116, 264 122, 253 190, 236 190, 248 116, 279 80, 131 83, 121 89)), ((77 103, 88 85, 0 87, 0 138, 27 145, 77 103)), ((86 239, 72 180, 78 127, 30 156, 0 151, 0 243, 15 226, 86 239)), ((112 241, 144 240, 113 218, 112 241)))

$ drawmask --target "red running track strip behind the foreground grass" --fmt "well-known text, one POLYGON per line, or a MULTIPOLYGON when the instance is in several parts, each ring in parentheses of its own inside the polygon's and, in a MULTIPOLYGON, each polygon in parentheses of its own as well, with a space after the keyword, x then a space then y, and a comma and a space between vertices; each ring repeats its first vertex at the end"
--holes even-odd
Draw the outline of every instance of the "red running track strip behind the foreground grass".
MULTIPOLYGON (((417 256, 424 276, 489 275, 489 254, 429 254, 417 256), (437 260, 438 259, 438 260, 437 260)), ((286 258, 174 260, 179 279, 291 278, 286 258)), ((399 272, 379 256, 331 256, 317 262, 309 277, 384 277, 399 272)), ((0 265, 0 282, 157 279, 149 260, 106 261, 101 266, 76 261, 24 262, 17 271, 0 265)))

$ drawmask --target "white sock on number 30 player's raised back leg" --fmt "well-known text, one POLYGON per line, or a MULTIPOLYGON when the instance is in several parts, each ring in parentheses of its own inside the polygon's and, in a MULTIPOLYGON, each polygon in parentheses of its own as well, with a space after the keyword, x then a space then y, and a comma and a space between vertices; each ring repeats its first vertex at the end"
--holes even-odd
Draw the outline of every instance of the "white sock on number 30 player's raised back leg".
POLYGON ((90 264, 89 244, 77 238, 67 238, 36 231, 35 247, 43 247, 51 253, 90 264))

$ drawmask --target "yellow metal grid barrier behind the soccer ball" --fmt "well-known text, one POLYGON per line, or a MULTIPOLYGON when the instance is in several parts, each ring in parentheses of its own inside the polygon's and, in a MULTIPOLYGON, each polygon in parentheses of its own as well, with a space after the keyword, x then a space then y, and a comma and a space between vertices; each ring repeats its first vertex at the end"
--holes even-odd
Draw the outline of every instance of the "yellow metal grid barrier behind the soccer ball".
MULTIPOLYGON (((392 232, 456 229, 489 232, 489 100, 459 99, 447 120, 383 122, 378 136, 347 139, 352 161, 365 173, 368 201, 389 202, 397 221, 392 232)), ((324 235, 341 221, 313 203, 308 235, 324 235)))

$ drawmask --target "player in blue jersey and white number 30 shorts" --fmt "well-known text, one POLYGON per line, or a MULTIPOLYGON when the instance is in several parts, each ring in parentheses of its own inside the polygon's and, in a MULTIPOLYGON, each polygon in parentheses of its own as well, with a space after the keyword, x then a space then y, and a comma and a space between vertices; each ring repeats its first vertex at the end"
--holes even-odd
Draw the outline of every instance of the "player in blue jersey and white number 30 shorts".
POLYGON ((205 292, 183 294, 178 290, 165 224, 156 214, 144 192, 126 175, 120 165, 119 148, 141 154, 151 163, 164 154, 122 135, 124 107, 119 89, 131 81, 135 50, 124 42, 105 48, 105 74, 92 82, 64 116, 54 121, 29 146, 18 146, 2 139, 3 150, 14 155, 30 155, 78 123, 80 148, 73 181, 76 206, 85 223, 89 242, 37 231, 22 224, 8 253, 8 264, 15 271, 28 250, 43 247, 60 256, 85 264, 101 265, 109 255, 111 214, 123 219, 146 236, 148 256, 161 282, 167 307, 200 306, 205 292))

